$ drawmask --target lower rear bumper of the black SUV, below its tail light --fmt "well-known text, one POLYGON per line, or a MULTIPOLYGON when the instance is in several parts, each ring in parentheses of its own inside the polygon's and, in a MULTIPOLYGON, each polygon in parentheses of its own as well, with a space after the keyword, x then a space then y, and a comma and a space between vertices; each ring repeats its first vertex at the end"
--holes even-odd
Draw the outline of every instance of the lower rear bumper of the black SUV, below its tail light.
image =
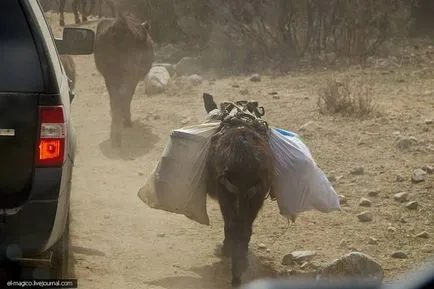
POLYGON ((38 255, 63 234, 69 213, 72 161, 37 169, 30 199, 14 214, 0 212, 0 258, 38 255))

